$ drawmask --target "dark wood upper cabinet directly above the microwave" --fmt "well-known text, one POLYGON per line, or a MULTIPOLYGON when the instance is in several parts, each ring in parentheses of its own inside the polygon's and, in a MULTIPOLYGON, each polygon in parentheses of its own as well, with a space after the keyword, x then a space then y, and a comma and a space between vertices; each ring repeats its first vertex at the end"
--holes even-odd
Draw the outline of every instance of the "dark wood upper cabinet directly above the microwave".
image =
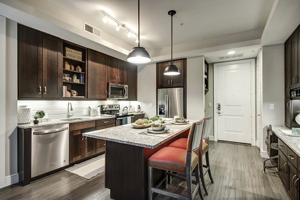
POLYGON ((107 56, 107 82, 126 84, 126 62, 107 56))

